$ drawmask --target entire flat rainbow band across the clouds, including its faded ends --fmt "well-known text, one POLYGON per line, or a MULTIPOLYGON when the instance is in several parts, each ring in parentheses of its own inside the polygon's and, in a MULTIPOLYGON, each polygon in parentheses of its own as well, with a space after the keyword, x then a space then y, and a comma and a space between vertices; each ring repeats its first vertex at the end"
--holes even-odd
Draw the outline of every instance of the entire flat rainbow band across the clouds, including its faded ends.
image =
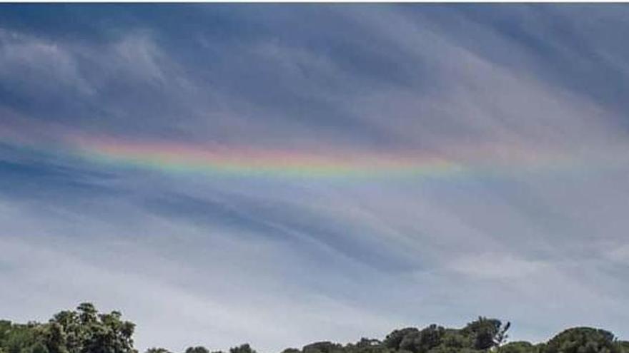
POLYGON ((34 150, 62 153, 108 168, 137 168, 229 178, 447 179, 519 171, 625 168, 629 162, 626 144, 590 148, 587 153, 548 145, 514 143, 450 145, 450 148, 438 152, 365 152, 343 149, 272 150, 163 140, 129 140, 81 133, 64 134, 49 145, 42 145, 38 138, 25 138, 24 135, 7 134, 6 131, 0 131, 1 140, 34 150))

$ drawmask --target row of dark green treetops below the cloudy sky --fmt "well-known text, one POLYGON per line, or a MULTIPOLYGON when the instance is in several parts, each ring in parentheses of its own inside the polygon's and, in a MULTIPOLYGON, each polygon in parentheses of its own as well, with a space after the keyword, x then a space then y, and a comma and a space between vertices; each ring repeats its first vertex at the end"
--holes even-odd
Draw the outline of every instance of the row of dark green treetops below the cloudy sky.
MULTIPOLYGON (((431 324, 418 329, 395 329, 385 339, 367 339, 349 344, 315 342, 281 353, 629 353, 629 342, 613 333, 592 327, 573 327, 548 342, 507 342, 510 323, 479 317, 460 329, 431 324)), ((46 323, 16 324, 0 320, 0 353, 138 353, 134 348, 135 324, 117 311, 100 313, 91 303, 64 310, 46 323)), ((154 347, 144 353, 172 353, 154 347)), ((210 352, 202 346, 183 353, 210 352)), ((229 353, 257 353, 249 344, 229 353)))

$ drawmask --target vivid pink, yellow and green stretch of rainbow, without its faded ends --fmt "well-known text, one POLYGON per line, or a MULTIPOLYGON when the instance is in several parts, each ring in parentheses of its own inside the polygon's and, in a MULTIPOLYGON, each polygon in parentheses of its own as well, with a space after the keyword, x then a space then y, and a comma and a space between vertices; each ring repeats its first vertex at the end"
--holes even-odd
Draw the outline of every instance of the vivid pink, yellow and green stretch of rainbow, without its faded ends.
POLYGON ((94 140, 79 144, 83 158, 109 165, 172 173, 264 178, 382 178, 393 175, 443 177, 461 165, 436 156, 383 153, 228 148, 177 143, 94 140))

